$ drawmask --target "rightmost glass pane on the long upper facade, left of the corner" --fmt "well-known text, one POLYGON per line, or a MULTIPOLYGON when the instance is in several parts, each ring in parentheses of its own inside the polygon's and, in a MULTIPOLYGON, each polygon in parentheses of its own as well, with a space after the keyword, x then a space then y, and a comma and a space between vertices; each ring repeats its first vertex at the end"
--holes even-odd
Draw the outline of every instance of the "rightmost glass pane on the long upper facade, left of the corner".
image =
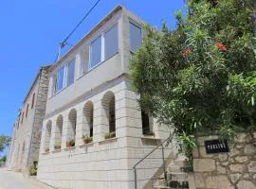
POLYGON ((118 25, 113 26, 105 33, 105 60, 119 51, 118 25))

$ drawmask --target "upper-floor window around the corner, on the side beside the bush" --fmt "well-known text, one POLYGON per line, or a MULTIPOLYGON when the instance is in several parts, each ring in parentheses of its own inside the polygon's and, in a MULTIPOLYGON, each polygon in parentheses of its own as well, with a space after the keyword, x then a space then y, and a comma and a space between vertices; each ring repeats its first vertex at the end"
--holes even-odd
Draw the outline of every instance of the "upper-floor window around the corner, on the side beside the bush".
POLYGON ((142 43, 142 30, 139 26, 129 23, 130 50, 136 52, 142 43))

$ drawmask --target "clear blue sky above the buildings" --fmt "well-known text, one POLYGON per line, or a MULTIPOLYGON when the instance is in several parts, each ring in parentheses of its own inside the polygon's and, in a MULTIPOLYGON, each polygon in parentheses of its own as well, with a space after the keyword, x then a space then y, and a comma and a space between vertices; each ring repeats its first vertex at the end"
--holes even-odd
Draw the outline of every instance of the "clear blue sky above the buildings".
MULTIPOLYGON (((11 135, 18 109, 40 66, 55 60, 58 44, 96 0, 8 0, 0 2, 0 134, 11 135)), ((68 40, 74 44, 118 4, 160 28, 174 28, 183 0, 101 0, 68 40)))

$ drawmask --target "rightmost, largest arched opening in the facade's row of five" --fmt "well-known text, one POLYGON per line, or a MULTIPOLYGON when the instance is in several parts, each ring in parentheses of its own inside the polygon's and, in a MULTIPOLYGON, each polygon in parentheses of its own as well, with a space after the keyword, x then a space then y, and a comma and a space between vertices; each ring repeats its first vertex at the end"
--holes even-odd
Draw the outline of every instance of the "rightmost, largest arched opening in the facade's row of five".
POLYGON ((107 92, 102 98, 102 106, 107 118, 108 132, 105 138, 116 137, 116 100, 115 94, 107 92))

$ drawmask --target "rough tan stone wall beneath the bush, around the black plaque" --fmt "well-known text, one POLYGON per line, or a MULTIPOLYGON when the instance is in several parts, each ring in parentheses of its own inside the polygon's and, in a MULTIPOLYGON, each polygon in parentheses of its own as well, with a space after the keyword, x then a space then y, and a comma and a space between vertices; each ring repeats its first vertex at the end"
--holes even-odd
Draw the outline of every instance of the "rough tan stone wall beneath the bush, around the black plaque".
POLYGON ((239 133, 228 153, 207 154, 205 141, 218 136, 198 138, 193 151, 196 189, 255 189, 256 132, 239 133))

